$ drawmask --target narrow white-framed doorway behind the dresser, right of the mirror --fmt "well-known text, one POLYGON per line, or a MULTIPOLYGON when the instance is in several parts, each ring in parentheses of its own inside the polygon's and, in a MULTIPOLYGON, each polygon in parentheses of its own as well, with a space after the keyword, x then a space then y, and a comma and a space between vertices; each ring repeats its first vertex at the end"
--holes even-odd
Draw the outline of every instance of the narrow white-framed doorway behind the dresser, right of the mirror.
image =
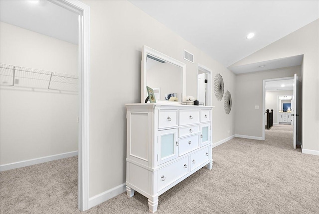
POLYGON ((197 100, 203 106, 211 106, 212 70, 197 64, 197 100))

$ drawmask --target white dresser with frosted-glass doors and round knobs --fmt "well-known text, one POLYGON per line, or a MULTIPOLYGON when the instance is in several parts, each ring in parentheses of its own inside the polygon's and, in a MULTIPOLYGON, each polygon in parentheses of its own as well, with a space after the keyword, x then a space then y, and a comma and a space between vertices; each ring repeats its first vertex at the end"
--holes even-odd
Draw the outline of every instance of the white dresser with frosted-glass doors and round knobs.
POLYGON ((212 168, 212 107, 127 104, 128 197, 157 211, 159 196, 203 166, 212 168))

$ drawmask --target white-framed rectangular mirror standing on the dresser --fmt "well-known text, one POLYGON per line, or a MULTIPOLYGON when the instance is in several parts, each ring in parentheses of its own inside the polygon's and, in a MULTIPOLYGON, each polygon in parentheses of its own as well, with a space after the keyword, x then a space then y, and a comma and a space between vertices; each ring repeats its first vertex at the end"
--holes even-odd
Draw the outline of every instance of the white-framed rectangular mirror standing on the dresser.
POLYGON ((157 103, 180 104, 185 96, 186 66, 148 46, 142 50, 141 103, 148 97, 146 87, 154 90, 157 103), (177 97, 177 102, 168 101, 177 97))

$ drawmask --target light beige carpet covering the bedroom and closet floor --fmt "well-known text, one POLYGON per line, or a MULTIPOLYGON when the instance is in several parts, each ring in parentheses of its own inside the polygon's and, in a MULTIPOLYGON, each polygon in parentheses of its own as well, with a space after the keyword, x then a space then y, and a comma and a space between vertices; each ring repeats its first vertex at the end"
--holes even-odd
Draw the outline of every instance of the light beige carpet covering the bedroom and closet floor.
MULTIPOLYGON (((112 172, 110 172, 112 175, 112 172)), ((123 193, 77 210, 77 157, 0 173, 1 214, 147 214, 148 199, 123 193)), ((234 138, 205 167, 159 197, 158 214, 318 214, 319 156, 293 149, 292 126, 266 140, 234 138)))

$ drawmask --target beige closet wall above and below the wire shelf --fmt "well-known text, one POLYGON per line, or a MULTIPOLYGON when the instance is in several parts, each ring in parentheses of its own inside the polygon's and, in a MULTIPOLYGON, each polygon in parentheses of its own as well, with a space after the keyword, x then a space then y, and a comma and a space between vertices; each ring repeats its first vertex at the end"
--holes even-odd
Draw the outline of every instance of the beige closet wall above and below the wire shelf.
MULTIPOLYGON (((0 46, 1 63, 78 75, 75 44, 0 22, 0 46)), ((2 85, 0 165, 76 154, 77 117, 77 93, 2 85)))

